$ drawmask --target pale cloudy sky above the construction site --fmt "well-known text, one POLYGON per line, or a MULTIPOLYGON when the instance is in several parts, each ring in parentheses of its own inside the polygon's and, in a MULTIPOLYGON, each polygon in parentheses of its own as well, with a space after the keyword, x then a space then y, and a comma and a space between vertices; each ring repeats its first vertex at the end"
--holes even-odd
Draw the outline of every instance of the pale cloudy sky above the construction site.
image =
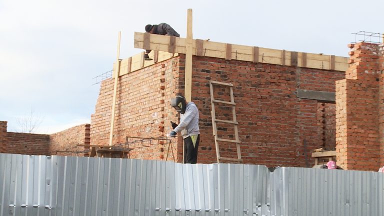
POLYGON ((347 56, 350 34, 380 32, 382 0, 0 0, 0 120, 20 131, 30 110, 38 133, 89 123, 99 85, 92 77, 140 52, 133 32, 166 22, 181 37, 347 56))

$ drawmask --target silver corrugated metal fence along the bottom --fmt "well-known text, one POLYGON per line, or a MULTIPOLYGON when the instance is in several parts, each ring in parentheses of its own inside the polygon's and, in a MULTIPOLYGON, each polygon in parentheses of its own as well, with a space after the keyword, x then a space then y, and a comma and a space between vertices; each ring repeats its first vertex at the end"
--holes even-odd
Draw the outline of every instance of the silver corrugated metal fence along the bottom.
POLYGON ((384 215, 384 174, 0 154, 0 215, 384 215))

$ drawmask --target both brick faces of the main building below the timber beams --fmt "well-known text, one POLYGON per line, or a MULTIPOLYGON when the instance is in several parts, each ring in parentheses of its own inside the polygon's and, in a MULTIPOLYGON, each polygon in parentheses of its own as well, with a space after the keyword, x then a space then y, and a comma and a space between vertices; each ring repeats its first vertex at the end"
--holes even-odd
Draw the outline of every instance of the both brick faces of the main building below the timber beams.
MULTIPOLYGON (((169 101, 177 92, 183 93, 184 61, 185 55, 180 54, 119 77, 114 143, 124 143, 125 136, 156 137, 170 131, 169 120, 176 120, 178 116, 169 106, 169 101), (160 76, 162 71, 164 75, 160 76), (161 77, 165 78, 164 82, 159 80, 161 77), (165 90, 159 89, 159 85, 163 85, 165 90), (164 132, 158 131, 161 125, 164 125, 164 132)), ((192 100, 200 111, 198 162, 216 161, 209 80, 234 85, 244 163, 310 166, 312 149, 321 147, 322 143, 317 126, 318 102, 298 98, 296 89, 334 92, 335 80, 343 77, 344 72, 340 71, 193 56, 192 100)), ((112 90, 113 79, 103 81, 91 117, 91 144, 108 143, 112 90)), ((216 88, 214 91, 215 97, 229 100, 227 89, 216 88)), ((223 105, 216 106, 215 111, 218 119, 231 116, 230 109, 223 105)), ((218 133, 233 139, 233 129, 229 125, 218 125, 218 133)), ((176 142, 178 145, 174 150, 181 161, 182 140, 176 142)), ((146 159, 161 159, 165 156, 161 150, 167 147, 153 143, 150 147, 142 143, 135 146, 131 156, 146 159)), ((234 144, 221 143, 220 148, 222 156, 235 157, 234 144)))

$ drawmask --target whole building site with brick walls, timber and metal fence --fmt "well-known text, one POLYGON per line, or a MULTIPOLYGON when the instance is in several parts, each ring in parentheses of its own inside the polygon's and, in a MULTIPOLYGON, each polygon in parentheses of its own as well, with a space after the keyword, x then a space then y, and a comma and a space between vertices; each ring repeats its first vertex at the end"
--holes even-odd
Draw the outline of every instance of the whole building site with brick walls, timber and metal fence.
POLYGON ((186 29, 134 32, 149 60, 120 59, 118 34, 90 124, 0 121, 0 215, 384 215, 381 33, 343 57, 193 38, 191 9, 186 29), (197 164, 168 135, 176 95, 199 111, 197 164))

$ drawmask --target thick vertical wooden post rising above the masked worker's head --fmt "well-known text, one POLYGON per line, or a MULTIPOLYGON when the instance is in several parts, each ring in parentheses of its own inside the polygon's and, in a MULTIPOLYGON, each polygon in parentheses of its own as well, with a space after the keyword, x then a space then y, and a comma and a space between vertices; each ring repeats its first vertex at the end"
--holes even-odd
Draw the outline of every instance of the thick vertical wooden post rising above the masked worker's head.
POLYGON ((191 101, 192 94, 192 9, 188 9, 186 22, 186 41, 185 41, 185 82, 184 96, 186 101, 191 101))

